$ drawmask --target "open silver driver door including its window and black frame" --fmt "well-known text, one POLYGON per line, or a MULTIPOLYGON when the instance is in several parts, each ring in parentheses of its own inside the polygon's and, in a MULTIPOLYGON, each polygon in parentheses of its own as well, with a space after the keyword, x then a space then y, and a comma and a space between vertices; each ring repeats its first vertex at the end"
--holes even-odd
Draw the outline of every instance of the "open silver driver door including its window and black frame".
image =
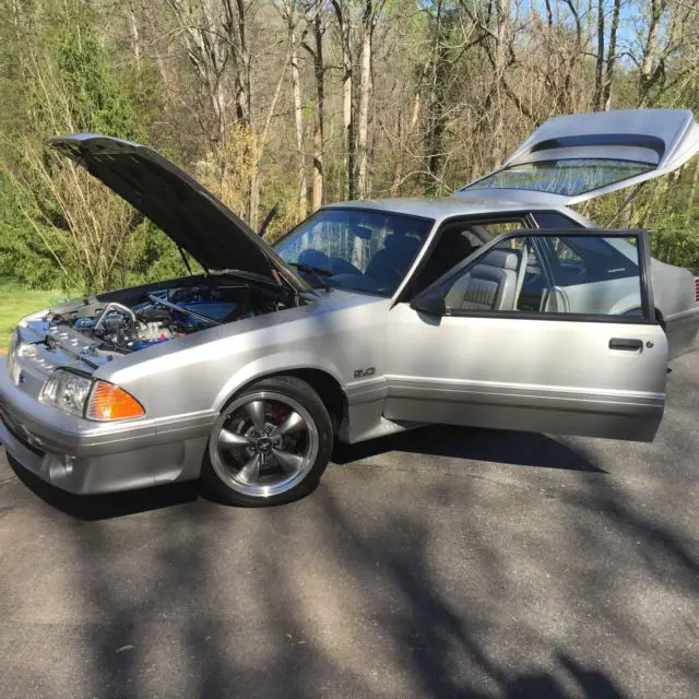
POLYGON ((651 441, 667 341, 648 266, 643 232, 500 236, 389 313, 384 416, 651 441))

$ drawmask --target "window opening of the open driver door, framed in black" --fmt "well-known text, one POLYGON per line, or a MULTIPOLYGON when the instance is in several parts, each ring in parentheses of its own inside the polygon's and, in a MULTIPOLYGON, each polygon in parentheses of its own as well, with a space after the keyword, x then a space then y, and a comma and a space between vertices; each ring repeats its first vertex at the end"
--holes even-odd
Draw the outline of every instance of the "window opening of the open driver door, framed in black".
POLYGON ((638 316, 638 238, 521 235, 473 260, 441 284, 449 312, 501 311, 638 316), (554 260, 543 264, 542 251, 554 260))

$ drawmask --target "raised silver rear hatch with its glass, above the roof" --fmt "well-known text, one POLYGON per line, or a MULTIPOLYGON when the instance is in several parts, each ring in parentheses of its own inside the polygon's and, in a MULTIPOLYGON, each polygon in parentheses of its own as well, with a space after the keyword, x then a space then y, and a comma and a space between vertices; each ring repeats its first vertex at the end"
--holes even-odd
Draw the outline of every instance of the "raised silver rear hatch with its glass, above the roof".
POLYGON ((699 125, 688 109, 556 117, 534 131, 502 167, 459 192, 577 204, 666 175, 698 150, 699 125))

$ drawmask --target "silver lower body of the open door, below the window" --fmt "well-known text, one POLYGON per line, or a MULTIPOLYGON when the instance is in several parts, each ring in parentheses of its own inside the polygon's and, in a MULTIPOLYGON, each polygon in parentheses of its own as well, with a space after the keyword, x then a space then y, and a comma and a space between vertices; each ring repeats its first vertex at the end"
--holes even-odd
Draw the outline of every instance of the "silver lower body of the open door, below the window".
POLYGON ((663 416, 660 325, 389 315, 384 415, 651 441, 663 416), (613 337, 642 343, 609 347, 613 337))

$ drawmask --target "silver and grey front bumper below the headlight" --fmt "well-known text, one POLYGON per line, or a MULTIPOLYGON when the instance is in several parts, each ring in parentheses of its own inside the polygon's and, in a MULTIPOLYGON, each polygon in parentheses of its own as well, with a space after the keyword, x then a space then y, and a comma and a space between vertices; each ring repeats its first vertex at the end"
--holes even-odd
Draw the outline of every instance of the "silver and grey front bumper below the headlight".
POLYGON ((43 481, 81 495, 197 478, 215 414, 94 423, 14 386, 0 360, 0 442, 43 481))

